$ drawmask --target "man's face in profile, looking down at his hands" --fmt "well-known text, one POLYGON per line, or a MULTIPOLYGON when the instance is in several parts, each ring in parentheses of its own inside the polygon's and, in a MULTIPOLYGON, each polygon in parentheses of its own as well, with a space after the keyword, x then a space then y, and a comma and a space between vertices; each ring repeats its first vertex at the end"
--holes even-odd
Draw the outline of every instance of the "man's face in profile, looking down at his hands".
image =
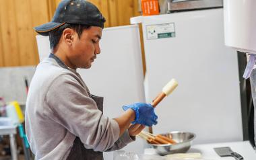
POLYGON ((92 66, 96 54, 100 54, 101 36, 102 28, 94 26, 84 30, 80 38, 75 32, 68 53, 69 62, 74 68, 89 69, 92 66))

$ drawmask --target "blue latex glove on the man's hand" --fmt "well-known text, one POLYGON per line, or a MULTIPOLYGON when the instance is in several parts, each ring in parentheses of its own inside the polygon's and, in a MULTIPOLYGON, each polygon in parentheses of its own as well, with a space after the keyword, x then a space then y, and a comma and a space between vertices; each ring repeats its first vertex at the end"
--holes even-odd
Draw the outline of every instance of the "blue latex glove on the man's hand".
POLYGON ((158 116, 156 116, 154 112, 154 108, 151 104, 131 104, 127 106, 123 106, 123 110, 128 109, 134 110, 135 112, 135 120, 132 124, 143 124, 145 126, 152 126, 153 124, 156 125, 158 116))

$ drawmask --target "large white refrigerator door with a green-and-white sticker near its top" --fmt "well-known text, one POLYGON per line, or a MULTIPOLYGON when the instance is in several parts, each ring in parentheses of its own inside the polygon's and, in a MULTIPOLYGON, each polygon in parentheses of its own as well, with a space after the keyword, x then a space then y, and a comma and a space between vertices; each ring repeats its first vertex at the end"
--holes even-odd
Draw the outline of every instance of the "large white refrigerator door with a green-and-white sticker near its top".
POLYGON ((146 102, 175 78, 177 89, 156 108, 154 133, 194 132, 195 143, 243 140, 238 62, 224 46, 223 9, 133 17, 142 22, 146 102))

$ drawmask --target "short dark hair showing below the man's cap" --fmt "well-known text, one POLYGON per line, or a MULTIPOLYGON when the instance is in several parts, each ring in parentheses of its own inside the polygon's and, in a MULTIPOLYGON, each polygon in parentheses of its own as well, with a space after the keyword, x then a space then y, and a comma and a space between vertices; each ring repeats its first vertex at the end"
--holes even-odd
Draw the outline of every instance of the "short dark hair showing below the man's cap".
POLYGON ((90 26, 81 25, 81 24, 63 24, 59 28, 52 30, 49 32, 49 40, 50 40, 50 47, 51 49, 55 48, 57 44, 59 44, 59 40, 61 39, 61 35, 63 30, 66 28, 71 28, 77 32, 78 37, 80 38, 83 30, 90 28, 90 26))

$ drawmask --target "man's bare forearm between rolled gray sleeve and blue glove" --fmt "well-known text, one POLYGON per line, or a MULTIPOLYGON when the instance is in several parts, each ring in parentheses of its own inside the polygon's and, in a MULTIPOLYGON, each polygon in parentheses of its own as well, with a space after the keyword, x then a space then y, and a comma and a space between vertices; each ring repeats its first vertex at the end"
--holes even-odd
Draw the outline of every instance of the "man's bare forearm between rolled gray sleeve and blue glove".
POLYGON ((127 110, 118 118, 114 118, 117 121, 120 128, 119 136, 121 136, 127 128, 129 128, 131 122, 135 119, 135 112, 131 109, 127 110))

